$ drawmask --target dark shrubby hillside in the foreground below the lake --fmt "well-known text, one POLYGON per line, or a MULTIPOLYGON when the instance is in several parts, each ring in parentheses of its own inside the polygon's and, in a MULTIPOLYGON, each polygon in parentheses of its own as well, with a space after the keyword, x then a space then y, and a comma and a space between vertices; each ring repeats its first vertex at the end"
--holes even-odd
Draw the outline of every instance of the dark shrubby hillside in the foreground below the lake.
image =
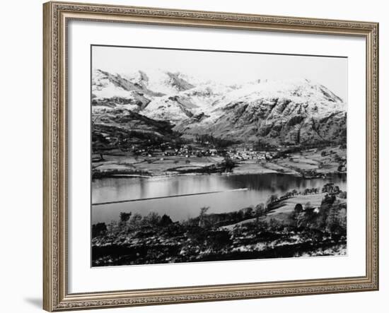
POLYGON ((230 213, 207 214, 201 208, 197 218, 175 223, 158 213, 121 213, 119 222, 93 225, 92 265, 344 255, 346 197, 328 184, 322 192, 290 191, 270 197, 266 205, 230 213), (304 203, 312 194, 323 197, 319 206, 304 203), (273 214, 290 199, 301 203, 288 214, 273 214))

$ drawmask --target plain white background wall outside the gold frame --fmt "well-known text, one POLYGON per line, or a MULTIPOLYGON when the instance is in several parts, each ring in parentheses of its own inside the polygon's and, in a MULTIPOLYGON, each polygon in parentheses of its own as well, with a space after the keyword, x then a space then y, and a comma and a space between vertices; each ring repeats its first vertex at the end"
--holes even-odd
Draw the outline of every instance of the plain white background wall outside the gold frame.
MULTIPOLYGON (((93 1, 93 0, 91 0, 93 1)), ((371 20, 380 23, 381 290, 262 300, 207 302, 98 312, 387 312, 389 218, 389 10, 370 0, 94 0, 95 3, 371 20)), ((4 1, 0 28, 0 310, 39 312, 42 302, 42 1, 4 1)), ((350 208, 352 209, 352 208, 350 208)))

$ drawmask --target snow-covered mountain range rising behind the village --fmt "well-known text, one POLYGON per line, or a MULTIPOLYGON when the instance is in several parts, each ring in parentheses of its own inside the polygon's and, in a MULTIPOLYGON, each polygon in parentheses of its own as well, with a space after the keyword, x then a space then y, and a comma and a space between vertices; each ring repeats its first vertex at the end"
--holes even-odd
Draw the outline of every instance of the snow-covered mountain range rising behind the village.
POLYGON ((166 71, 95 70, 92 94, 95 117, 131 111, 170 122, 182 134, 272 144, 346 139, 346 103, 306 79, 222 85, 166 71))

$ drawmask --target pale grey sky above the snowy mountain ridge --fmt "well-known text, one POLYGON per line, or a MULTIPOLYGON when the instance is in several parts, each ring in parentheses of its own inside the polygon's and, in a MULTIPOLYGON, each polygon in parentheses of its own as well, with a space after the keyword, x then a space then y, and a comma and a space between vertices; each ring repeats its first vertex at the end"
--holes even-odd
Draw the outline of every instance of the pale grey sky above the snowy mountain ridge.
POLYGON ((240 84, 306 78, 347 100, 347 58, 93 46, 92 68, 110 73, 160 69, 204 81, 240 84))

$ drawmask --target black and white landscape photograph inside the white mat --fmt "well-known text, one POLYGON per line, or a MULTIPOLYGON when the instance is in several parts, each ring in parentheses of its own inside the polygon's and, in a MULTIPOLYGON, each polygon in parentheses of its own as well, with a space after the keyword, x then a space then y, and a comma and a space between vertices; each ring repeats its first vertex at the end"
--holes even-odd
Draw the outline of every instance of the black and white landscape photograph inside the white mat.
POLYGON ((347 57, 91 46, 91 266, 347 255, 347 57))

